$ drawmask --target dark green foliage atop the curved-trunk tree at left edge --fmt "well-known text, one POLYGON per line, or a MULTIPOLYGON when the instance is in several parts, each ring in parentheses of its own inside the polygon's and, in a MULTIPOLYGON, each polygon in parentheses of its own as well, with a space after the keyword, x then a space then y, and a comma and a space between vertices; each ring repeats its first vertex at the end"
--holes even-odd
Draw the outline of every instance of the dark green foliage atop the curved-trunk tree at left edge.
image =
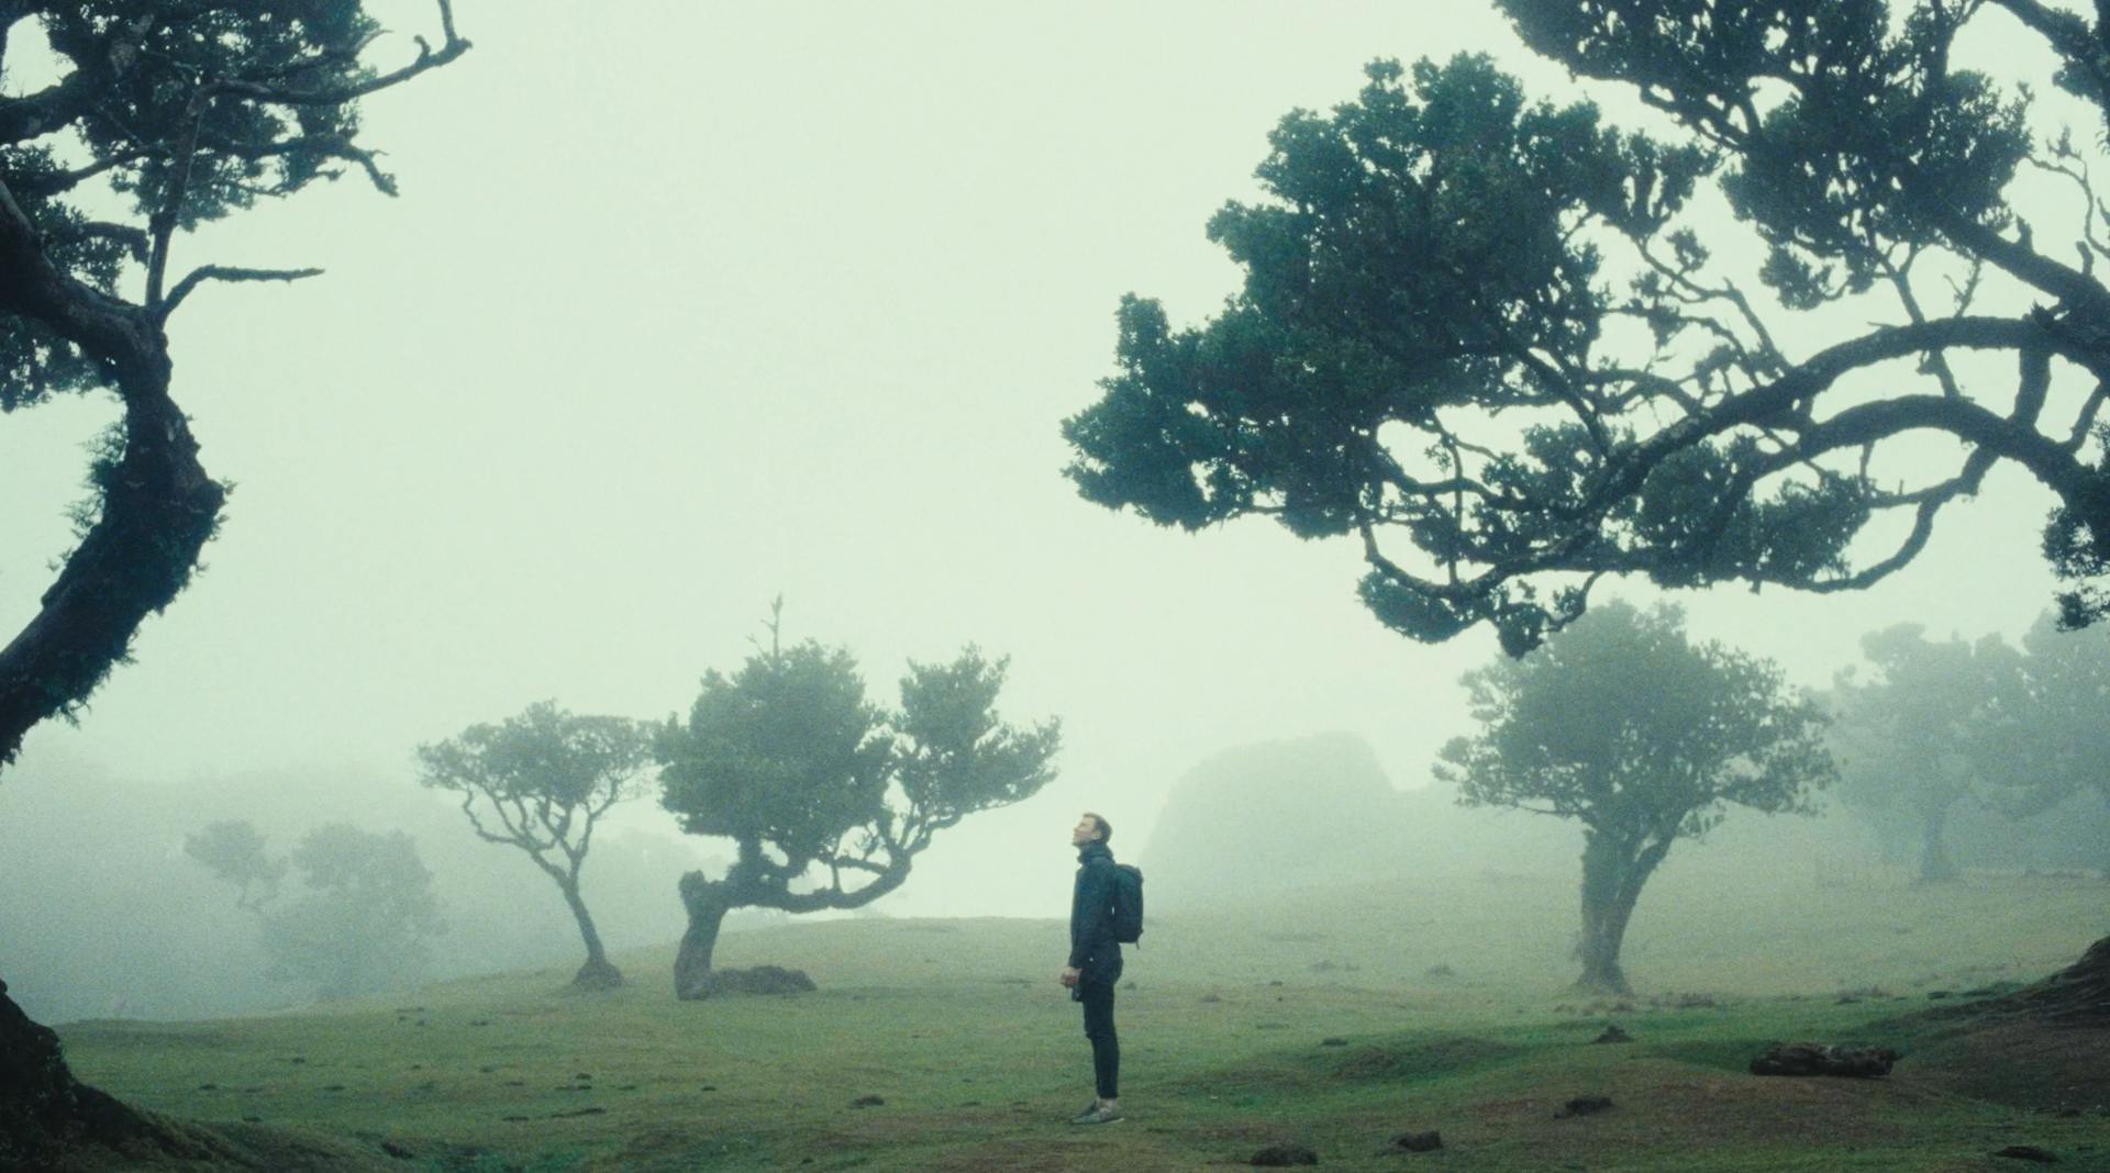
MULTIPOLYGON (((382 27, 359 0, 11 4, 0 25, 0 49, 42 34, 65 68, 46 89, 0 99, 0 184, 44 257, 99 293, 118 295, 131 272, 148 278, 143 306, 160 308, 173 293, 160 278, 171 232, 348 167, 395 194, 359 143, 357 97, 401 78, 361 63, 382 27), (87 165, 59 162, 49 146, 68 133, 87 165), (137 219, 95 219, 101 188, 137 219)), ((456 46, 466 42, 449 27, 422 61, 452 59, 456 46)), ((78 340, 30 314, 0 314, 0 409, 110 382, 78 340)))

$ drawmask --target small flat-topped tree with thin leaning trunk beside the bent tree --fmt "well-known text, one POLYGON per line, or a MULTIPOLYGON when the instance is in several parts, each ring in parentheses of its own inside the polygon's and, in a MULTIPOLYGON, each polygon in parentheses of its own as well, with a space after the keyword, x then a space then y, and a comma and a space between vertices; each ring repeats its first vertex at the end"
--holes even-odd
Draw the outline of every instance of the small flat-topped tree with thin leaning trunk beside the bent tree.
POLYGON ((610 964, 580 897, 578 873, 599 819, 644 793, 650 732, 622 717, 574 717, 544 700, 502 724, 471 726, 456 738, 420 745, 418 762, 426 787, 462 797, 462 814, 477 838, 528 852, 563 892, 587 941, 587 964, 572 985, 622 985, 622 970, 610 964))

